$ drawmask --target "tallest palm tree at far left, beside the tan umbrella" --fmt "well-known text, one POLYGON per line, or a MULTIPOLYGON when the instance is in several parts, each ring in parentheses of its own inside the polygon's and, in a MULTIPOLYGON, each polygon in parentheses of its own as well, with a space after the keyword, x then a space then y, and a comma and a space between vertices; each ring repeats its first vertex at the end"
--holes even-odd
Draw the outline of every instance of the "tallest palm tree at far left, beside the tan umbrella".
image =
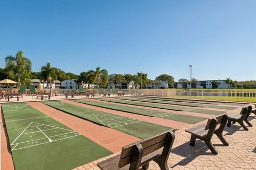
POLYGON ((18 51, 15 57, 7 55, 5 57, 5 67, 10 78, 17 79, 17 82, 21 84, 30 85, 32 63, 26 56, 23 56, 23 51, 18 51))

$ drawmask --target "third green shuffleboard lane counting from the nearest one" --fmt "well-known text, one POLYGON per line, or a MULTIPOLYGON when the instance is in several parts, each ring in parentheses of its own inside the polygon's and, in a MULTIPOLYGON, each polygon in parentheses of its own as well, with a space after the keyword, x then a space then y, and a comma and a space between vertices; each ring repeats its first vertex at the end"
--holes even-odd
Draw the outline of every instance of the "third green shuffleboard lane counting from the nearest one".
POLYGON ((163 119, 170 119, 170 120, 175 120, 178 122, 189 123, 189 124, 195 124, 195 123, 201 122, 206 119, 204 117, 181 115, 181 114, 175 114, 172 112, 164 112, 164 111, 143 109, 143 108, 130 107, 130 106, 120 106, 118 104, 103 103, 103 102, 92 101, 92 100, 88 100, 88 99, 73 100, 73 101, 79 102, 79 103, 84 103, 84 104, 89 104, 92 106, 107 108, 107 109, 130 112, 132 114, 160 117, 163 119))

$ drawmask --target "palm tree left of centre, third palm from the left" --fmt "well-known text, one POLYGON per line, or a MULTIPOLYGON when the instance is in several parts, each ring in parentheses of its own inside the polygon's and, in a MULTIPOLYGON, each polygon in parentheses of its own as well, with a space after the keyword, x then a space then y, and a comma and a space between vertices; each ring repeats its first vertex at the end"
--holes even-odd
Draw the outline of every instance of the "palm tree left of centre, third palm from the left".
POLYGON ((97 83, 97 93, 99 93, 99 80, 102 81, 103 86, 106 86, 108 83, 108 71, 97 67, 95 71, 89 70, 88 73, 92 75, 93 83, 97 83))

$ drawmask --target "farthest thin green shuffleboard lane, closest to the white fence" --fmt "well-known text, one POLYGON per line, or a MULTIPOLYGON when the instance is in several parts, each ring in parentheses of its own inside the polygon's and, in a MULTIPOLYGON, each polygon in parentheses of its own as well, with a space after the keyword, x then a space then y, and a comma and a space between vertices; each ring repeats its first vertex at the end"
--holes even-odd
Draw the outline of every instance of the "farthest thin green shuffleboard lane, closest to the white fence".
POLYGON ((246 103, 229 103, 229 102, 210 102, 210 101, 200 101, 200 100, 186 100, 186 99, 173 99, 173 98, 155 98, 151 96, 134 96, 135 98, 142 98, 142 99, 155 99, 155 100, 165 100, 165 101, 176 101, 176 102, 187 102, 187 103, 202 103, 202 104, 223 104, 223 105, 230 105, 230 106, 245 106, 246 103))

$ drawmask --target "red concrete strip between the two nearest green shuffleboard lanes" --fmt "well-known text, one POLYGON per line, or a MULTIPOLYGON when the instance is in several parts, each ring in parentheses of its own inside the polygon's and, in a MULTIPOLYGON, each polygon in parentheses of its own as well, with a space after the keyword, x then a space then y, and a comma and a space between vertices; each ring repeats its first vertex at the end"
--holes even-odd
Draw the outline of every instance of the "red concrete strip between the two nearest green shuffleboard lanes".
POLYGON ((100 126, 84 119, 66 114, 65 112, 54 109, 42 102, 27 102, 31 107, 52 117, 58 122, 68 126, 74 131, 84 135, 93 142, 110 150, 111 152, 121 151, 124 145, 137 142, 140 139, 112 128, 100 126))

